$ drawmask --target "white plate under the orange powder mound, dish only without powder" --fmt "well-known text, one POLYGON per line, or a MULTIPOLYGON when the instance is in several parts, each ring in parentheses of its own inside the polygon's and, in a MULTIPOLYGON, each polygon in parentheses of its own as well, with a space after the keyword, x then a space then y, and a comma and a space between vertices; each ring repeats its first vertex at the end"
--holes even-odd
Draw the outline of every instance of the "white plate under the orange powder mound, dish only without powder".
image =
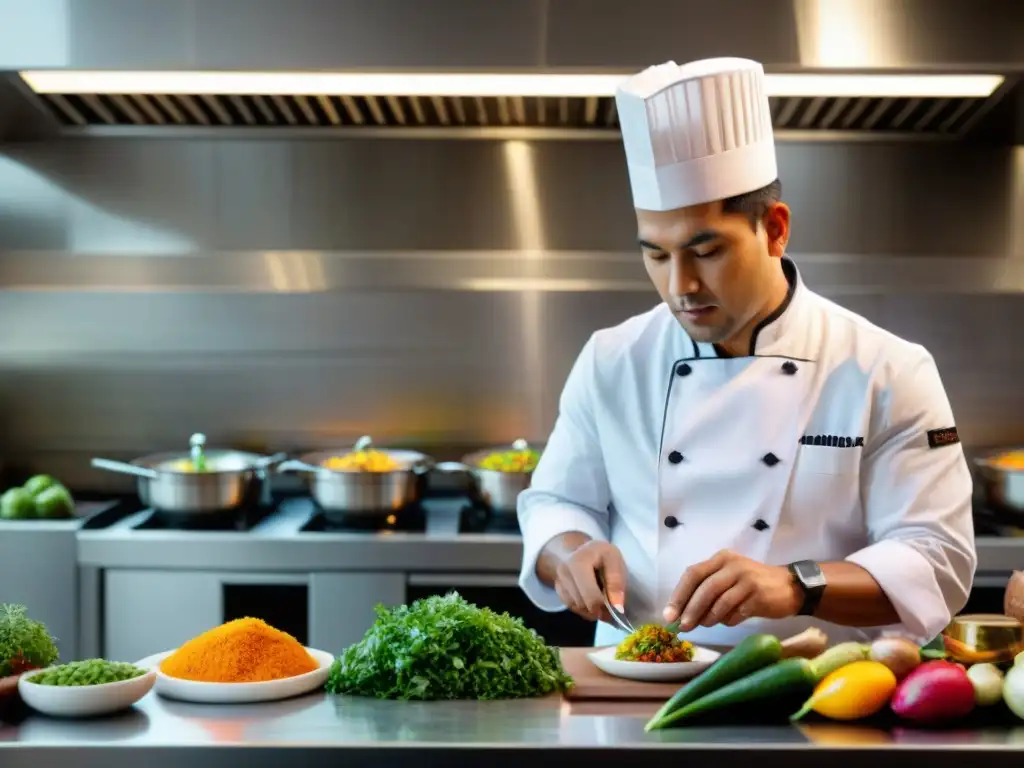
MULTIPOLYGON (((175 649, 176 650, 176 649, 175 649)), ((327 651, 306 648, 319 667, 312 672, 284 680, 266 680, 259 683, 202 683, 196 680, 181 680, 160 671, 160 663, 174 650, 156 653, 136 662, 136 667, 152 669, 157 674, 157 693, 167 698, 198 703, 252 703, 255 701, 280 701, 283 698, 301 696, 323 687, 331 673, 334 656, 327 651)))

